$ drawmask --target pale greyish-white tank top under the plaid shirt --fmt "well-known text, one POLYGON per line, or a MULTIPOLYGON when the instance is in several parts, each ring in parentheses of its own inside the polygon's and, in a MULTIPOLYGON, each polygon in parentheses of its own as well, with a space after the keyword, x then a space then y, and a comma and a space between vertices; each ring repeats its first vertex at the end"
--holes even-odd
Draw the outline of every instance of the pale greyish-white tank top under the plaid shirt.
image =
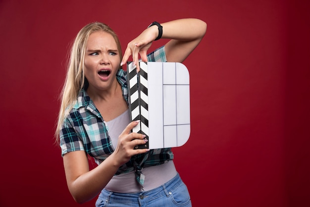
MULTIPOLYGON (((106 122, 108 134, 114 149, 117 147, 118 136, 123 132, 129 123, 129 109, 118 117, 106 122)), ((169 160, 164 164, 142 168, 142 173, 145 175, 143 185, 144 191, 155 189, 177 175, 177 171, 172 160, 169 160)), ((113 176, 110 182, 105 186, 105 189, 118 193, 137 193, 143 191, 136 181, 134 171, 113 176)))

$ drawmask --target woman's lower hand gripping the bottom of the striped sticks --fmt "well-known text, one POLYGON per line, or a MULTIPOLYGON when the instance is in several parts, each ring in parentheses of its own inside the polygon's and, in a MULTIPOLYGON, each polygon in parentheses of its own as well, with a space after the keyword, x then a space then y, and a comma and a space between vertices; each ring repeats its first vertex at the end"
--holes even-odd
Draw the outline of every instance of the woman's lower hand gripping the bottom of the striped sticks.
POLYGON ((117 147, 113 152, 114 158, 117 159, 117 163, 121 166, 128 162, 133 155, 138 155, 150 151, 149 149, 137 149, 134 150, 136 145, 143 145, 148 142, 145 139, 145 135, 131 132, 131 130, 138 125, 140 121, 132 121, 126 126, 124 131, 119 135, 117 141, 117 147))

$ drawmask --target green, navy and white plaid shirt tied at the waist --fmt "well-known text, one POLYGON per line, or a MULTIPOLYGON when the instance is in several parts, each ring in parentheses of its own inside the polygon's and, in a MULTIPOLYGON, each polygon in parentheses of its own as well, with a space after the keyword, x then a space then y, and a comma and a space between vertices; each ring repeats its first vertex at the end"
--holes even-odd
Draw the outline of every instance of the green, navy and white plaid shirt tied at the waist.
MULTIPOLYGON (((166 62, 164 47, 150 53, 148 61, 166 62)), ((127 74, 120 69, 116 78, 128 104, 127 74)), ((62 156, 83 150, 94 157, 97 164, 114 152, 105 121, 87 95, 86 89, 80 91, 75 105, 64 120, 60 130, 60 147, 62 156)), ((130 161, 119 167, 115 175, 136 170, 136 175, 140 177, 142 167, 159 165, 170 159, 173 159, 170 148, 150 150, 148 153, 132 156, 130 161)), ((139 180, 140 178, 137 178, 137 181, 143 184, 143 180, 139 180)))

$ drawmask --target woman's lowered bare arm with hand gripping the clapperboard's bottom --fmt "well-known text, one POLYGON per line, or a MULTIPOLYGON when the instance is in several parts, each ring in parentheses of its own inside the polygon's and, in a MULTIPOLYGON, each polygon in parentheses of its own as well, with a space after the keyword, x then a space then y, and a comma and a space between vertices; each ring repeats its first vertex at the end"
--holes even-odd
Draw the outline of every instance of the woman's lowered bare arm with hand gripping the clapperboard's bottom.
POLYGON ((115 151, 94 169, 89 169, 85 151, 74 151, 63 156, 63 165, 69 191, 77 203, 85 203, 95 198, 111 180, 117 169, 128 162, 133 155, 146 153, 149 149, 134 150, 136 145, 145 144, 145 136, 131 133, 139 123, 133 121, 118 138, 115 151))

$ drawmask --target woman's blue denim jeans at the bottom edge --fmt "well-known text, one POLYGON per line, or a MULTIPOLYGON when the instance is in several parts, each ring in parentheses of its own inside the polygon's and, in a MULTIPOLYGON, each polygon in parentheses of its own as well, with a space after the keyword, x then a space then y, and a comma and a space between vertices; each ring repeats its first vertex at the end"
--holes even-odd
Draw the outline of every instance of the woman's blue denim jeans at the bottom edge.
POLYGON ((96 207, 192 207, 192 203, 186 185, 177 174, 151 191, 114 193, 103 189, 96 207))

